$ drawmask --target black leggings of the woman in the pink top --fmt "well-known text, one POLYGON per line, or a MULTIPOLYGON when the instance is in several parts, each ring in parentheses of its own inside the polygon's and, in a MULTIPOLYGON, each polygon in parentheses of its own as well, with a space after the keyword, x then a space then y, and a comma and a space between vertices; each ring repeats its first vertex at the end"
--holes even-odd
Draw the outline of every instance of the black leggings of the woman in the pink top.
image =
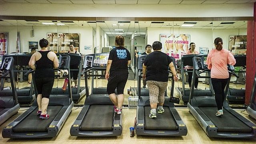
POLYGON ((223 102, 225 99, 225 86, 228 83, 228 78, 220 79, 220 78, 211 78, 212 87, 215 94, 215 100, 218 107, 218 110, 222 110, 223 102))

